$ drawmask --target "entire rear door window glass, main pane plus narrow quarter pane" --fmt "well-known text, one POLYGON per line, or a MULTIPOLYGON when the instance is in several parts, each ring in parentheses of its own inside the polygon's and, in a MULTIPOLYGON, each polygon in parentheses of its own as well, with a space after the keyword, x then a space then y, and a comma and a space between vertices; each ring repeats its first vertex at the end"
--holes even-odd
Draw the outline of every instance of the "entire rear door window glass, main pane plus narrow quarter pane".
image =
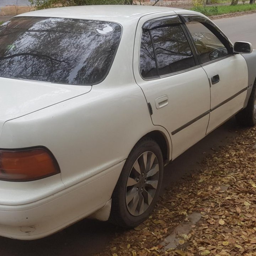
POLYGON ((140 45, 140 73, 144 78, 168 75, 193 66, 191 48, 180 25, 144 30, 140 45))

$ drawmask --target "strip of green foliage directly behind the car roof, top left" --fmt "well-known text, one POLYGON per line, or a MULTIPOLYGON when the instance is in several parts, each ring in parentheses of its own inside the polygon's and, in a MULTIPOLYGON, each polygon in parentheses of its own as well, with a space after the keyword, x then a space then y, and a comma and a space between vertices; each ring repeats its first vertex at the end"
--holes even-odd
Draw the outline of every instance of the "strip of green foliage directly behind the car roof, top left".
POLYGON ((37 10, 58 6, 132 4, 132 0, 29 0, 37 10))

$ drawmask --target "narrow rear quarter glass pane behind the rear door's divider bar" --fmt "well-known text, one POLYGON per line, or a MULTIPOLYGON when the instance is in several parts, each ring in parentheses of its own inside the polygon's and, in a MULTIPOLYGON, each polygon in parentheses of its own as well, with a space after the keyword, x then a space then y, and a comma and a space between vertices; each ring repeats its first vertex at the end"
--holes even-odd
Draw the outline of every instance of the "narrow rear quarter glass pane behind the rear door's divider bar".
POLYGON ((140 43, 140 74, 144 78, 157 76, 154 50, 149 30, 144 30, 140 43))

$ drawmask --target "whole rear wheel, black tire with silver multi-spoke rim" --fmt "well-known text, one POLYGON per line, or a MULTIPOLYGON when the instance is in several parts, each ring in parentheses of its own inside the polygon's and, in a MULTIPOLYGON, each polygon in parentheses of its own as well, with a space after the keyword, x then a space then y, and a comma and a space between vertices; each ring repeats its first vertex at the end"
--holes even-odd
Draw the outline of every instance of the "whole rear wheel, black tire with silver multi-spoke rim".
POLYGON ((163 170, 159 145, 151 138, 140 140, 130 152, 114 188, 110 222, 123 228, 144 222, 159 197, 163 170))

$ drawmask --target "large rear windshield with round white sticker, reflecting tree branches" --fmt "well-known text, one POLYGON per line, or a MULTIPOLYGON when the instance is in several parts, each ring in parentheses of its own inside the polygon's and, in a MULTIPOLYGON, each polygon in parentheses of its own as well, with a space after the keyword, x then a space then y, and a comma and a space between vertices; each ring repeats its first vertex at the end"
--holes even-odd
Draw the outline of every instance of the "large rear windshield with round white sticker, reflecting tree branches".
POLYGON ((0 76, 97 84, 111 68, 121 32, 105 21, 13 18, 0 26, 0 76))

